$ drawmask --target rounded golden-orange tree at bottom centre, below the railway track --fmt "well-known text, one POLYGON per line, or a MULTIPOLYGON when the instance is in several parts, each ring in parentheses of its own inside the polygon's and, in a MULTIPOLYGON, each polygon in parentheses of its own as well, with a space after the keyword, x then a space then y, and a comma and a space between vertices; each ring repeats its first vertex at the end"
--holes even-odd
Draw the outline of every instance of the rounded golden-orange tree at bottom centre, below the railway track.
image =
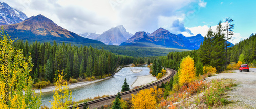
POLYGON ((150 88, 150 89, 140 90, 139 93, 137 93, 137 95, 132 94, 132 100, 131 100, 132 107, 139 108, 139 109, 156 108, 157 101, 153 93, 154 93, 154 89, 150 88))

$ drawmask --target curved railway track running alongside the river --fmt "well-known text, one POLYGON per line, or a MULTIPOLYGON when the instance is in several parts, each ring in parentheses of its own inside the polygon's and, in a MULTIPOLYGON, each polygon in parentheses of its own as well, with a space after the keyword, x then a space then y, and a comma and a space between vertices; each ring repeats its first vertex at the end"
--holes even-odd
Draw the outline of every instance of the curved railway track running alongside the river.
MULTIPOLYGON (((153 82, 151 84, 142 86, 141 88, 137 88, 137 89, 134 89, 134 90, 130 90, 130 91, 126 91, 126 92, 120 93, 120 95, 122 96, 122 95, 132 94, 132 93, 137 92, 139 90, 143 90, 143 89, 146 89, 146 88, 151 88, 152 86, 156 86, 157 84, 161 84, 162 82, 166 82, 171 77, 173 77, 175 75, 175 73, 176 73, 176 71, 173 70, 173 69, 169 69, 169 68, 166 68, 166 69, 171 73, 168 77, 165 77, 165 78, 163 78, 163 79, 161 79, 159 81, 153 82)), ((103 102, 103 101, 106 101, 106 100, 109 100, 109 99, 115 99, 115 98, 116 98, 116 95, 112 95, 112 96, 109 96, 109 97, 105 97, 105 98, 89 101, 89 102, 87 102, 87 104, 90 107, 90 105, 92 105, 92 104, 96 104, 96 103, 99 103, 99 102, 103 102)), ((84 106, 84 103, 78 104, 79 108, 81 108, 83 106, 84 106)), ((72 106, 69 106, 69 108, 71 109, 72 106)))

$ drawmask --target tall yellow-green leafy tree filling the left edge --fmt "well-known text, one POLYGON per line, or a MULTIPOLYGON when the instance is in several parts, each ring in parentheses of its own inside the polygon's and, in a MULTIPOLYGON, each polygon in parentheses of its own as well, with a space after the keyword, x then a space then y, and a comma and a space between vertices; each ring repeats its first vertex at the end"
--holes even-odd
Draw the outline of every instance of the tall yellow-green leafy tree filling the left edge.
POLYGON ((0 108, 39 108, 41 93, 34 93, 29 75, 31 57, 24 57, 22 50, 15 49, 3 29, 0 36, 4 38, 0 40, 0 108))

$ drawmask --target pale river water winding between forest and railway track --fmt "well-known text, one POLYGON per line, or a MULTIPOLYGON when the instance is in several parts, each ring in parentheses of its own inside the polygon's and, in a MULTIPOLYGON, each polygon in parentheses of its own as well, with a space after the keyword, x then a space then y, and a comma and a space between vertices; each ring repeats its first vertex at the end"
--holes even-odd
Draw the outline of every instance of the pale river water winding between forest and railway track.
MULTIPOLYGON (((80 88, 71 89, 72 96, 75 101, 79 101, 90 97, 93 98, 102 95, 114 95, 117 94, 118 91, 122 90, 122 85, 125 78, 130 85, 130 89, 132 89, 131 86, 135 82, 137 77, 149 75, 149 72, 150 69, 148 69, 146 66, 122 68, 110 79, 85 85, 80 88), (142 71, 139 73, 133 73, 131 70, 142 71)), ((51 100, 53 100, 53 92, 44 93, 42 95, 42 106, 46 105, 48 107, 51 107, 52 105, 49 102, 51 100)))

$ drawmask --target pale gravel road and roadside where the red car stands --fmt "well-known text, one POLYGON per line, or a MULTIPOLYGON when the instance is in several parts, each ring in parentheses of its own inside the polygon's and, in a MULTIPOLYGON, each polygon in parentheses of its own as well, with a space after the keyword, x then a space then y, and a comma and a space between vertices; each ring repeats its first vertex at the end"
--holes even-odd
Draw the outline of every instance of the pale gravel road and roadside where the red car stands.
POLYGON ((234 79, 238 84, 236 89, 229 91, 228 100, 232 101, 227 108, 256 108, 256 68, 250 68, 250 72, 221 73, 208 79, 234 79))

